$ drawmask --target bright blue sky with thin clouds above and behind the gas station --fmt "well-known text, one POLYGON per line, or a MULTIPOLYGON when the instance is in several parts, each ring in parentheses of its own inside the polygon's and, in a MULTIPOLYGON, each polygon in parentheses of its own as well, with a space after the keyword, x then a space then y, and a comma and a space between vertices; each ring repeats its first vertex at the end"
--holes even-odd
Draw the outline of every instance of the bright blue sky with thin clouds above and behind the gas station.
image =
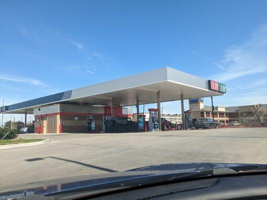
MULTIPOLYGON (((170 66, 225 83, 215 105, 267 103, 266 10, 266 0, 2 0, 0 100, 170 66)), ((162 106, 180 112, 179 101, 162 106)))

